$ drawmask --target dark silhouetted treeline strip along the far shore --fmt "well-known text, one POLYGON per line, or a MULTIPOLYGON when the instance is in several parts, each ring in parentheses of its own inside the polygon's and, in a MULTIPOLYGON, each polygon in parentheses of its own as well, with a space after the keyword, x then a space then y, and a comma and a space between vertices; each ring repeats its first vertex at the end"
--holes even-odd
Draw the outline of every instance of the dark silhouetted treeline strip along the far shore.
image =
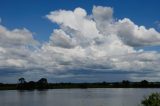
POLYGON ((65 89, 65 88, 160 88, 160 82, 97 82, 97 83, 48 83, 46 78, 37 82, 27 82, 19 78, 17 84, 0 83, 0 90, 33 90, 33 89, 65 89))

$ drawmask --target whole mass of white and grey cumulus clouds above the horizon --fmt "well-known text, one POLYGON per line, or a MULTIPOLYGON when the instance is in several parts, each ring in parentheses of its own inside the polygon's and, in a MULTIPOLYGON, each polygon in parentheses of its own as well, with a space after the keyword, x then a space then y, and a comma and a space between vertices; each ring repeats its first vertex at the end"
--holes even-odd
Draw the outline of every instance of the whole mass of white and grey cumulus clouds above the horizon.
POLYGON ((59 29, 40 47, 27 29, 0 26, 1 69, 50 77, 121 73, 122 78, 127 74, 129 79, 158 79, 159 52, 135 49, 160 45, 160 33, 154 28, 138 26, 128 18, 115 20, 113 8, 102 6, 93 6, 90 15, 78 7, 52 11, 46 17, 59 29))

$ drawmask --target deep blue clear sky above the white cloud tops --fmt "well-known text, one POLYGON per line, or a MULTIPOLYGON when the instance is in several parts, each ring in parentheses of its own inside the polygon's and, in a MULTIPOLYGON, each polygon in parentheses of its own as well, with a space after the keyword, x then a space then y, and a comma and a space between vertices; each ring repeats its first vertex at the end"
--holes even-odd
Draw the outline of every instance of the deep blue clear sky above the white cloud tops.
POLYGON ((160 19, 159 4, 159 0, 1 0, 0 17, 8 28, 26 27, 35 32, 38 40, 46 41, 57 27, 45 18, 50 11, 81 7, 90 14, 93 5, 110 6, 118 19, 128 17, 138 25, 157 29, 155 22, 160 19))

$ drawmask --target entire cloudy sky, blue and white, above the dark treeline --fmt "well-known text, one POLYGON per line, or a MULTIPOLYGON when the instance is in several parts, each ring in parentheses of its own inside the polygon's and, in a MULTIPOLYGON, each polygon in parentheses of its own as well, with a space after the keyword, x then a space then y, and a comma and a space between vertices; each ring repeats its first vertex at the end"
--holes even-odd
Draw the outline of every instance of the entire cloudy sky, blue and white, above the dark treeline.
POLYGON ((159 0, 0 0, 0 82, 159 81, 159 0))

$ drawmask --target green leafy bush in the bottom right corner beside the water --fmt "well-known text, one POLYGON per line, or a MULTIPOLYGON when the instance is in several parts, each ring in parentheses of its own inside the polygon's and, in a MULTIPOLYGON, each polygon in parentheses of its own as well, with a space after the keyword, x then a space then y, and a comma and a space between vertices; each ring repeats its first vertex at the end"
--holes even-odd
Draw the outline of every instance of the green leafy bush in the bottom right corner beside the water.
POLYGON ((143 106, 160 106, 160 93, 152 93, 144 100, 142 100, 143 106))

